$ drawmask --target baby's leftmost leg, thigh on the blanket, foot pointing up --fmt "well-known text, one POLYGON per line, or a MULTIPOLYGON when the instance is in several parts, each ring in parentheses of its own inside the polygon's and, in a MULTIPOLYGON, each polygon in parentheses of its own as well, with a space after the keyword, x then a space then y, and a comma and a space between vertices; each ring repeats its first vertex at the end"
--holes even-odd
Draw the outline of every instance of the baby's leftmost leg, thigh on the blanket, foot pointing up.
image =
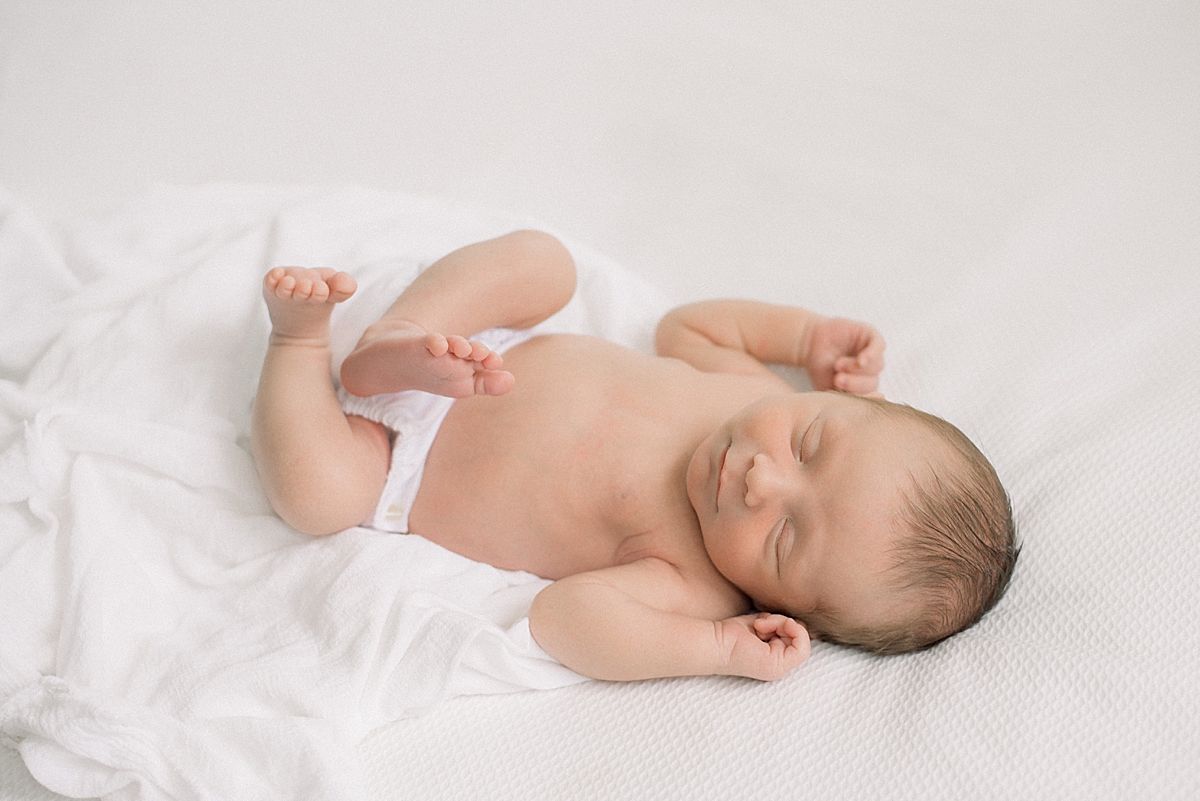
POLYGON ((329 315, 355 289, 334 270, 275 267, 263 279, 271 339, 254 397, 254 460, 275 511, 307 534, 361 523, 388 477, 386 429, 346 415, 329 378, 329 315))

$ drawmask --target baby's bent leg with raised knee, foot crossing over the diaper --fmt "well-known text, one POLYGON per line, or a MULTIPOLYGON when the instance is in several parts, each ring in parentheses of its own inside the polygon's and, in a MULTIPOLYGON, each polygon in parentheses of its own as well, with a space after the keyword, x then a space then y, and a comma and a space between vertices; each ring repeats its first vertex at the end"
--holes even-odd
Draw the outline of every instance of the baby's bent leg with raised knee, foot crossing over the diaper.
POLYGON ((466 336, 528 329, 575 294, 575 263, 562 242, 514 231, 460 248, 416 277, 342 362, 358 396, 424 390, 449 397, 503 395, 503 360, 466 336))

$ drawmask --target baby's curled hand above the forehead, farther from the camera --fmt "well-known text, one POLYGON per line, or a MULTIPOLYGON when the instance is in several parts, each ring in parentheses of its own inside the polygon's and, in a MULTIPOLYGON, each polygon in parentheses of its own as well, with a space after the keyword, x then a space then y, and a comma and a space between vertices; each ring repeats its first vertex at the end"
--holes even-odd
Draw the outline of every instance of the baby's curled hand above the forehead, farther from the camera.
POLYGON ((874 326, 842 318, 817 318, 804 367, 816 390, 872 395, 883 369, 883 337, 874 326))

